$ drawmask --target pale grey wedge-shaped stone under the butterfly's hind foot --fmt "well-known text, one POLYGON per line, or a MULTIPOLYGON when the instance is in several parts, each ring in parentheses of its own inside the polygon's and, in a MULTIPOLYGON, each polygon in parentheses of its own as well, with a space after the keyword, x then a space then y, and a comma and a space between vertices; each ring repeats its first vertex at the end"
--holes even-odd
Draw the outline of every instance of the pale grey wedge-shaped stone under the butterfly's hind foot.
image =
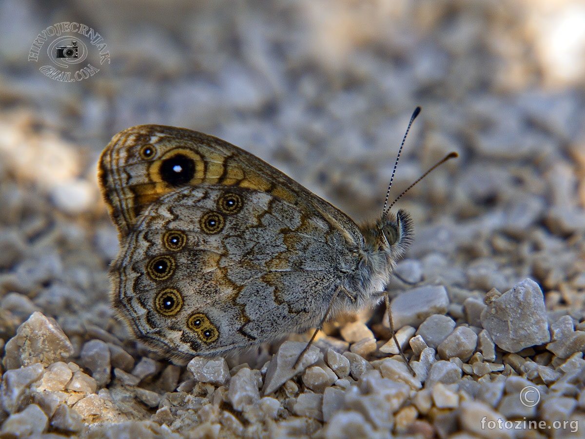
POLYGON ((319 348, 311 345, 307 352, 303 354, 299 365, 293 368, 298 356, 306 347, 306 343, 294 341, 285 341, 280 345, 276 354, 272 356, 266 371, 266 378, 264 379, 264 387, 262 389, 263 395, 267 396, 276 392, 287 380, 297 375, 297 373, 304 371, 305 368, 311 366, 318 360, 319 348))

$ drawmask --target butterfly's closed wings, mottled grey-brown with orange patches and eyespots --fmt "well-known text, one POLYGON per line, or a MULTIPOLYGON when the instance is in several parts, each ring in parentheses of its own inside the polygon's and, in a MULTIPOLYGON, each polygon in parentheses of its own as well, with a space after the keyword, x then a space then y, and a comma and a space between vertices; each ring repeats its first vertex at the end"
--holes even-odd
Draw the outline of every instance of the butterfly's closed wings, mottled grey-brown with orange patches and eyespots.
POLYGON ((355 266, 357 225, 257 157, 139 126, 102 154, 122 248, 112 300, 167 355, 213 355, 319 323, 355 266))

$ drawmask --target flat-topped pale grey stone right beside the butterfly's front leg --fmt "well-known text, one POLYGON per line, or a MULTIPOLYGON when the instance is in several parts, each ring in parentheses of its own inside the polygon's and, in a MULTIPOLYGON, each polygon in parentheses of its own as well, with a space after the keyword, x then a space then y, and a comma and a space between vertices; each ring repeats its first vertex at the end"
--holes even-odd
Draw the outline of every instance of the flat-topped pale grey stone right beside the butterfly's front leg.
MULTIPOLYGON (((425 285, 405 291, 391 303, 394 327, 401 328, 405 325, 418 327, 430 315, 445 314, 448 305, 449 296, 442 285, 425 285)), ((384 325, 387 325, 387 321, 388 319, 384 318, 384 325)))

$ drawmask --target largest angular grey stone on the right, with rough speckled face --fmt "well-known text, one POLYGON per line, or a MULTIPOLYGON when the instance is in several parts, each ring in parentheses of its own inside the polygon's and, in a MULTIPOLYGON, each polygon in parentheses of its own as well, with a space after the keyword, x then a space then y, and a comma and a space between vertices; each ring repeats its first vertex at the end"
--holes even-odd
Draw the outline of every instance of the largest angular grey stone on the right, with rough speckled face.
POLYGON ((542 290, 532 279, 525 279, 489 300, 481 313, 481 324, 495 344, 507 352, 550 341, 542 290))

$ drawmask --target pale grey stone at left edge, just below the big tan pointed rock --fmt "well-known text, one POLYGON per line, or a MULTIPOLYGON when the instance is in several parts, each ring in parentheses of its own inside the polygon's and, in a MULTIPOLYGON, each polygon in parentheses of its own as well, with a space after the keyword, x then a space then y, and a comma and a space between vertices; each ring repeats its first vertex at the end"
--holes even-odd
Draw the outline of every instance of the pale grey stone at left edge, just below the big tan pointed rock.
POLYGON ((43 373, 43 365, 35 363, 21 369, 12 369, 2 375, 0 396, 2 409, 8 413, 16 413, 27 403, 30 385, 38 380, 43 373))

